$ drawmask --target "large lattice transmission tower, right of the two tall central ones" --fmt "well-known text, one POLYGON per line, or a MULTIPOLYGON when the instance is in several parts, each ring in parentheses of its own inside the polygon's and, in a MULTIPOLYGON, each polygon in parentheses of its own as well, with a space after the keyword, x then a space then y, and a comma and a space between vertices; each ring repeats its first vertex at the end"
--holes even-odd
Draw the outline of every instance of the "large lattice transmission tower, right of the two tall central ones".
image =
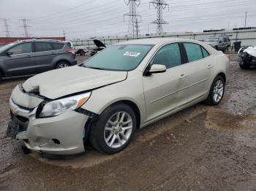
POLYGON ((164 0, 154 0, 149 2, 150 4, 154 5, 154 8, 157 9, 157 19, 154 20, 151 23, 157 24, 157 34, 162 35, 163 34, 163 28, 162 25, 168 24, 167 21, 163 20, 162 18, 162 10, 168 7, 169 10, 169 4, 167 4, 164 0))

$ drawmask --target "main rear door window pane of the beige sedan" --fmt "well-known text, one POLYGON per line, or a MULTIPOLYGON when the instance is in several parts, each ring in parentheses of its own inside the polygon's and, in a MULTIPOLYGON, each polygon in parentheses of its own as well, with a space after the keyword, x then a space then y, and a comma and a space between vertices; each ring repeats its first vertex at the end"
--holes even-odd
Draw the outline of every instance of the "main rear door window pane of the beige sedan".
POLYGON ((184 43, 187 52, 187 59, 189 62, 197 61, 203 58, 201 46, 195 43, 184 43))

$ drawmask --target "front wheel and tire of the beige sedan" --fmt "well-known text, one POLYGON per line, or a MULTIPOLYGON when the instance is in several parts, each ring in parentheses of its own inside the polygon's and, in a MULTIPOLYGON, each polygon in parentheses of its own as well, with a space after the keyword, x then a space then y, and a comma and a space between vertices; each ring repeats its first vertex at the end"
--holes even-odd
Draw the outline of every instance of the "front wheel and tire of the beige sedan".
POLYGON ((106 154, 120 152, 132 140, 136 126, 135 112, 128 105, 109 106, 99 115, 99 120, 92 124, 89 135, 91 145, 106 154), (123 115, 123 125, 118 126, 123 115))

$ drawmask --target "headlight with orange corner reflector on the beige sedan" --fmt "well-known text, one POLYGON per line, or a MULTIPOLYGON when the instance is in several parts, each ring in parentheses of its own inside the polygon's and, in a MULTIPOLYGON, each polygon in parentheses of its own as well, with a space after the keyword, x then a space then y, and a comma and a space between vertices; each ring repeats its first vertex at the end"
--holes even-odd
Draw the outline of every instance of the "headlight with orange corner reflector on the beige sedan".
POLYGON ((86 103, 90 95, 91 92, 50 101, 42 107, 42 112, 39 113, 39 117, 53 117, 63 114, 67 110, 78 109, 86 103))

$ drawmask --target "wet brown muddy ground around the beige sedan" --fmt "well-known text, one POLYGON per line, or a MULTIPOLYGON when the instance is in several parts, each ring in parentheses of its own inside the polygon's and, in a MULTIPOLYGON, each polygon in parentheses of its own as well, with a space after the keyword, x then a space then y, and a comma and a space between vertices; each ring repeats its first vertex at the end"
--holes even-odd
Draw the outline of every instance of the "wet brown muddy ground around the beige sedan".
POLYGON ((138 130, 116 155, 91 147, 71 159, 24 155, 4 134, 10 93, 24 80, 0 85, 0 190, 256 190, 256 69, 241 70, 235 56, 222 104, 138 130))

